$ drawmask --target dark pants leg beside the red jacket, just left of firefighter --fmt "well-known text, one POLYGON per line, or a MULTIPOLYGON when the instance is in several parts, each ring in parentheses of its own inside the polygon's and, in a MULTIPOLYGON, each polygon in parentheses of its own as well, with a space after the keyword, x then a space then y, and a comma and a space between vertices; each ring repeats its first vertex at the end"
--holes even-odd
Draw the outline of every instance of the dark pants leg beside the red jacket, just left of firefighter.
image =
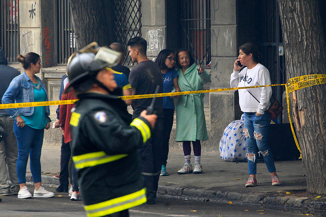
POLYGON ((68 165, 70 160, 71 150, 69 142, 65 143, 62 135, 61 156, 60 156, 60 184, 69 185, 68 165))

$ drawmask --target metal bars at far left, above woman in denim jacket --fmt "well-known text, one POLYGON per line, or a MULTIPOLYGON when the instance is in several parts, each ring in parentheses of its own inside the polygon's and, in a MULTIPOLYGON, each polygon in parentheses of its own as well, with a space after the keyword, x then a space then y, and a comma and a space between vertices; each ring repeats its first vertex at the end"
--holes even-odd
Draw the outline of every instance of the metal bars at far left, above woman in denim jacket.
POLYGON ((1 0, 1 44, 9 62, 16 62, 19 54, 18 0, 1 0))

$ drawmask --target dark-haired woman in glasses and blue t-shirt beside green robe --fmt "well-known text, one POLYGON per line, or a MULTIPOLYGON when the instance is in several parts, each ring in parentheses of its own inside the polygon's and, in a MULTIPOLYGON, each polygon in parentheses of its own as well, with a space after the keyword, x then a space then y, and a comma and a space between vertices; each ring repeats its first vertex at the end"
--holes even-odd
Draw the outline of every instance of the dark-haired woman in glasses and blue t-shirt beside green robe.
MULTIPOLYGON (((175 88, 176 92, 180 92, 178 85, 178 73, 174 69, 175 65, 175 55, 172 50, 164 49, 161 50, 155 60, 158 64, 163 79, 163 92, 171 92, 172 87, 175 88)), ((173 126, 173 116, 174 116, 174 103, 173 98, 176 97, 163 97, 163 112, 164 112, 164 125, 163 125, 163 141, 162 141, 162 168, 161 176, 167 176, 166 165, 169 154, 169 140, 170 133, 173 126)))

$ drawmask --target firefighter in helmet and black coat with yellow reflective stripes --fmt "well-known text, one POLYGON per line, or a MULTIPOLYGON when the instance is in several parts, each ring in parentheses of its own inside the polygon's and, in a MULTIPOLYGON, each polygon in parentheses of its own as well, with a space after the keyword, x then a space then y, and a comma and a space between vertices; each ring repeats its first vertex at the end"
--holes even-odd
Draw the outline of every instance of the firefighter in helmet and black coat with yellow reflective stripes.
POLYGON ((77 53, 68 66, 67 91, 79 98, 70 119, 73 162, 88 216, 129 216, 146 202, 138 149, 157 116, 144 111, 132 121, 112 71, 94 56, 77 53))

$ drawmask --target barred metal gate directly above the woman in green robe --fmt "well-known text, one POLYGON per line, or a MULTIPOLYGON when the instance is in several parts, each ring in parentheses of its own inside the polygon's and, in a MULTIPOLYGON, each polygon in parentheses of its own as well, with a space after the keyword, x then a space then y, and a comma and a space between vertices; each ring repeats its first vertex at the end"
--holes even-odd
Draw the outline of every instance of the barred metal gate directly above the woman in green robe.
POLYGON ((210 0, 182 0, 182 47, 193 52, 197 64, 210 62, 210 0))

